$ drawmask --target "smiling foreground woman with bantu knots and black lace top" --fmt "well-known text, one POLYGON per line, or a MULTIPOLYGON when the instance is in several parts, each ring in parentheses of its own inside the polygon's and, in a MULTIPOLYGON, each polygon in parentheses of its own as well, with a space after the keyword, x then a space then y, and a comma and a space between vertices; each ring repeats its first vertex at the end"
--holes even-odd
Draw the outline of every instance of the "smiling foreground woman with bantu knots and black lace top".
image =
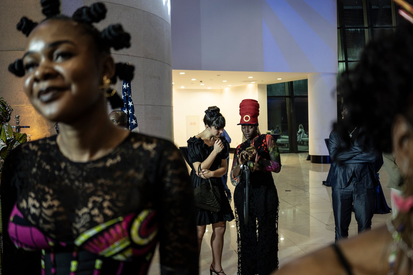
POLYGON ((102 3, 72 17, 59 15, 59 1, 41 4, 44 21, 18 24, 28 41, 9 71, 24 78, 40 115, 59 122, 59 135, 5 161, 4 274, 144 275, 157 244, 162 275, 198 274, 193 193, 178 149, 107 114, 107 98, 119 107, 111 84, 133 77, 133 66, 110 54, 130 46, 129 34, 92 25, 105 17, 102 3))

